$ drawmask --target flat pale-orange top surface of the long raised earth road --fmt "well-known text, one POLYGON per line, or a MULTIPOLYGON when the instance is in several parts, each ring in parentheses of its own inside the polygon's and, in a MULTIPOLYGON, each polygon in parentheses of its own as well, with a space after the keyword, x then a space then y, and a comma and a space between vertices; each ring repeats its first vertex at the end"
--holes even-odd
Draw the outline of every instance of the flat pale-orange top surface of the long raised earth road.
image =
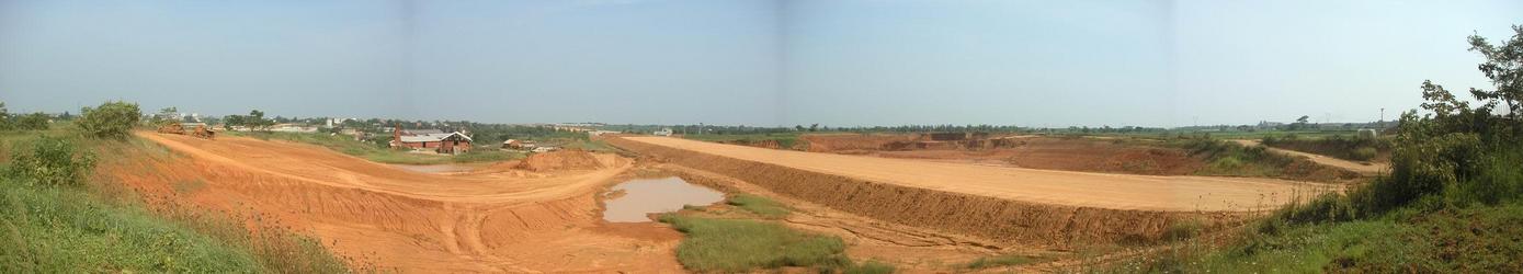
POLYGON ((813 154, 669 137, 626 140, 906 187, 1069 207, 1154 212, 1269 210, 1334 189, 1269 178, 1150 177, 813 154))

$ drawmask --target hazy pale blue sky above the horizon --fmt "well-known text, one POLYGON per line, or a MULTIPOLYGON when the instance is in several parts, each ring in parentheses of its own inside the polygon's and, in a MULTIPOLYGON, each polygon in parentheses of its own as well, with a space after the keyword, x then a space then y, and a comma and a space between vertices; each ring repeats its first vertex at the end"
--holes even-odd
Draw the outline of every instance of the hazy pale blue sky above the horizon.
POLYGON ((1523 2, 0 0, 0 100, 210 114, 1027 126, 1374 120, 1489 87, 1523 2), (1197 122, 1199 120, 1199 122, 1197 122))

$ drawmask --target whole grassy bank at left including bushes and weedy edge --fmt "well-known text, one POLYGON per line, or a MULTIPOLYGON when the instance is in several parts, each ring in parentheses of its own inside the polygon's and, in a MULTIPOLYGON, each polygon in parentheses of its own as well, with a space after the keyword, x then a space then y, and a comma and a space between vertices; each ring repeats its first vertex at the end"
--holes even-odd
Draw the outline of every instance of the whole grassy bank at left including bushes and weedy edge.
MULTIPOLYGON (((90 177, 91 169, 56 169, 93 166, 96 158, 122 163, 174 157, 151 142, 79 139, 64 131, 8 132, 5 140, 0 272, 349 271, 346 260, 315 239, 257 218, 245 222, 241 219, 250 218, 163 201, 145 204, 108 177, 90 177)), ((195 181, 175 186, 195 187, 195 181)))

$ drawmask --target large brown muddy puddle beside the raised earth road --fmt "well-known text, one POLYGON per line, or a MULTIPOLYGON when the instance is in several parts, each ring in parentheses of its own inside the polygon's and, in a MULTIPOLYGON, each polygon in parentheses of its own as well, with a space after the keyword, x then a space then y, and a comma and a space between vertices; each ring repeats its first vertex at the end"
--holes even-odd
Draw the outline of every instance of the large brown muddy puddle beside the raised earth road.
POLYGON ((725 199, 725 193, 690 184, 682 178, 629 180, 614 186, 621 193, 603 201, 603 219, 609 222, 649 222, 649 213, 676 212, 682 206, 708 206, 725 199))

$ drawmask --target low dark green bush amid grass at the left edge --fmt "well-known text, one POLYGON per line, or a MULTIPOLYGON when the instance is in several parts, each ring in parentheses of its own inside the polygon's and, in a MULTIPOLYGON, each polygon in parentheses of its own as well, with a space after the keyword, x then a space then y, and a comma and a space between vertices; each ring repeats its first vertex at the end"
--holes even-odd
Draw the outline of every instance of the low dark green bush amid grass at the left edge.
POLYGON ((44 135, 15 148, 24 149, 11 152, 6 174, 29 186, 79 186, 94 167, 94 154, 76 151, 65 139, 44 135))

